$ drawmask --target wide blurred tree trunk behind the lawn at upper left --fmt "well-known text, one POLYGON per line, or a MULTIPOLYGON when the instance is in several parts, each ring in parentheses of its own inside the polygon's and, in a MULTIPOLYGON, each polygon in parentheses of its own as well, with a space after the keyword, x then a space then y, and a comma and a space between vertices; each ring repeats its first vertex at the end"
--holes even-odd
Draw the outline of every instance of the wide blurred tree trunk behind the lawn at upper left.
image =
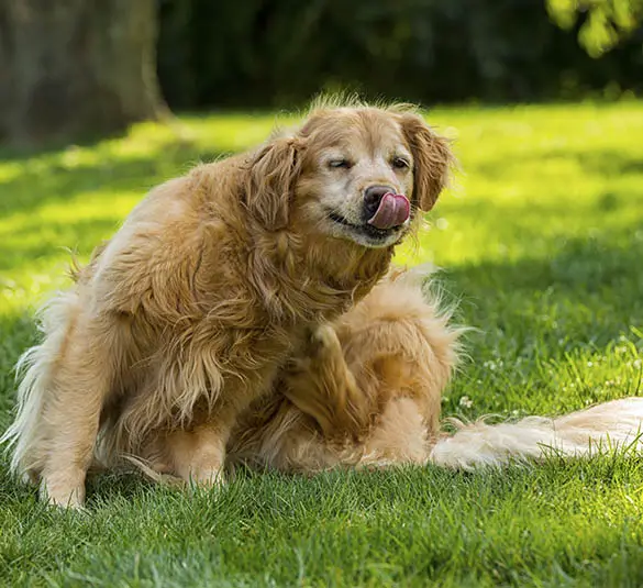
POLYGON ((158 119, 155 0, 0 0, 0 142, 38 145, 158 119))

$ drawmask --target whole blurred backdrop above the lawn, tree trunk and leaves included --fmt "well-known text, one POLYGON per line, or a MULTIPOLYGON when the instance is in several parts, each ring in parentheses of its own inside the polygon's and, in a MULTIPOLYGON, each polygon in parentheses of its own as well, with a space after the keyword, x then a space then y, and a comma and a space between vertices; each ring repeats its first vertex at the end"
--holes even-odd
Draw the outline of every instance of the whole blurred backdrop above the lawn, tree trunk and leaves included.
POLYGON ((0 146, 143 120, 643 95, 643 0, 0 0, 0 146))

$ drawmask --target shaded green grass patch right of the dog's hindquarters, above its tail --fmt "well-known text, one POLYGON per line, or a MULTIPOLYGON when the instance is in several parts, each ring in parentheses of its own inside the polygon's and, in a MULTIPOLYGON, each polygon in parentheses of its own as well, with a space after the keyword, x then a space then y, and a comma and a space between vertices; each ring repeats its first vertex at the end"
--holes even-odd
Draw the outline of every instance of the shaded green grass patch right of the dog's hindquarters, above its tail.
POLYGON ((447 284, 462 292, 459 320, 479 329, 472 341, 510 362, 600 350, 632 326, 641 329, 643 240, 634 231, 623 236, 618 244, 569 240, 548 258, 446 268, 447 284))

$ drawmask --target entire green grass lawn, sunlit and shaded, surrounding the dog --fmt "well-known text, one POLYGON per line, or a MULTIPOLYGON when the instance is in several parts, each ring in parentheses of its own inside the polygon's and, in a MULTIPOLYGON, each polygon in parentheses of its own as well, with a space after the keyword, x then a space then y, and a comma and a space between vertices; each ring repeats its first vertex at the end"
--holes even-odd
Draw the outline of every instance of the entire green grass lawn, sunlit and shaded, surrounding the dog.
MULTIPOLYGON (((635 395, 643 350, 643 103, 440 109, 464 174, 399 259, 434 260, 477 331, 444 413, 553 414, 635 395), (466 397, 466 398, 465 398, 466 397)), ((33 156, 0 153, 0 429, 34 307, 155 184, 265 137, 273 117, 184 118, 33 156)), ((643 391, 642 391, 643 393, 643 391)), ((219 493, 135 475, 89 513, 0 468, 7 586, 641 586, 643 461, 434 467, 312 479, 242 473, 219 493)))

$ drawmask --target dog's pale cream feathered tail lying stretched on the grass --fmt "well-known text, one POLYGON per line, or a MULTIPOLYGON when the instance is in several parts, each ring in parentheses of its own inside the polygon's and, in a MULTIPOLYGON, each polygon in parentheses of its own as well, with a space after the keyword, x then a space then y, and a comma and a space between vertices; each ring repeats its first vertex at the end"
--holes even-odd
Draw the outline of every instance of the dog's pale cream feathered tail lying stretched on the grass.
POLYGON ((554 419, 528 417, 498 424, 484 420, 451 422, 457 431, 435 443, 429 462, 454 469, 643 450, 643 398, 612 400, 554 419))

